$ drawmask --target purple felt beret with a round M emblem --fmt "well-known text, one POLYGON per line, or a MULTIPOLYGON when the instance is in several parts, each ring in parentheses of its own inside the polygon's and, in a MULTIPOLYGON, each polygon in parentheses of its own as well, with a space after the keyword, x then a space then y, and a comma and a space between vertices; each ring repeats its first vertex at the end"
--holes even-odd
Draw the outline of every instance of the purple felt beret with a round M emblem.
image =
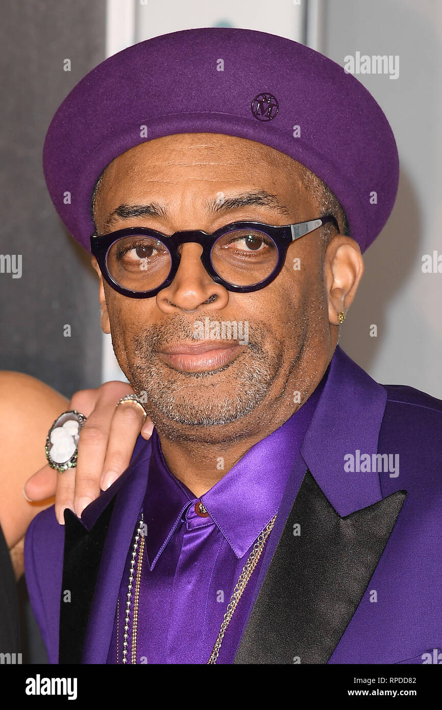
POLYGON ((338 197, 361 251, 392 211, 399 180, 392 129, 353 75, 277 35, 207 27, 118 52, 57 110, 43 169, 58 214, 82 246, 90 251, 92 192, 106 165, 173 133, 249 138, 298 160, 338 197))

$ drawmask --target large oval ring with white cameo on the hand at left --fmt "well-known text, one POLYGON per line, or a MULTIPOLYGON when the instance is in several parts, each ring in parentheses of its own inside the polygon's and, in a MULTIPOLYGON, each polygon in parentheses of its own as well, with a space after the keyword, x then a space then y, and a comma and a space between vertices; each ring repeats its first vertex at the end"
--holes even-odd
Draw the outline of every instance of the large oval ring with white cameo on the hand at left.
POLYGON ((77 466, 79 432, 86 417, 71 410, 57 417, 46 437, 46 458, 52 469, 62 473, 77 466))

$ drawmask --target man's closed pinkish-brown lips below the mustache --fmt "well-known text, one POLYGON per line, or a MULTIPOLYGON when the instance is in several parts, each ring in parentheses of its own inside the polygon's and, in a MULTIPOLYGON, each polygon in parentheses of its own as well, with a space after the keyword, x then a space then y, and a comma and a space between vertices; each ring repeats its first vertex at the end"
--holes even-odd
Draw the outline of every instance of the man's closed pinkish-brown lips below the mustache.
POLYGON ((236 358, 244 346, 237 343, 205 341, 196 344, 177 343, 163 347, 158 355, 167 365, 187 372, 218 370, 236 358))

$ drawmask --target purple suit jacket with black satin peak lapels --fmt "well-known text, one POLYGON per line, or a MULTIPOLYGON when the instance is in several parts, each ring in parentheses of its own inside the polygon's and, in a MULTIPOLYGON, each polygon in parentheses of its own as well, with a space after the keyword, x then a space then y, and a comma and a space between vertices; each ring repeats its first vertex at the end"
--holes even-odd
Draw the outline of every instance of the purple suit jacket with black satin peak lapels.
MULTIPOLYGON (((80 662, 62 643, 77 643, 82 663, 106 663, 149 457, 139 438, 127 471, 81 520, 67 511, 60 526, 52 507, 28 528, 26 581, 50 663, 80 662)), ((338 346, 291 462, 235 663, 433 662, 441 457, 442 401, 376 383, 338 346)))

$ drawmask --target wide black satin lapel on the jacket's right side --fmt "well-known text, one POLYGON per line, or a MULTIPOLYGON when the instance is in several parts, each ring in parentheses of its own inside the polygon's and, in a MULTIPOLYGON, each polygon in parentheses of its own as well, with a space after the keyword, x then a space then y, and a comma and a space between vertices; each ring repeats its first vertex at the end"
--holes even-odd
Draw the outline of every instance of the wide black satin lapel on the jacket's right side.
POLYGON ((367 589, 406 495, 397 491, 341 518, 307 471, 234 663, 326 663, 367 589))

